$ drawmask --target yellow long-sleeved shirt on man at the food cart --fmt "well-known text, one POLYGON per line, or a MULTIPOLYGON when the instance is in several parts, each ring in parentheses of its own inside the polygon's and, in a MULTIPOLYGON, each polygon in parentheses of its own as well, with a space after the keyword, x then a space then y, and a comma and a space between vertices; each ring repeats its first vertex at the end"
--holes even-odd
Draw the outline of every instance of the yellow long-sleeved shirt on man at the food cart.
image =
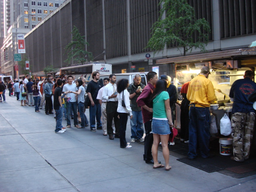
POLYGON ((204 75, 193 78, 188 86, 187 98, 190 104, 199 104, 196 107, 210 107, 211 102, 216 100, 212 82, 204 75))

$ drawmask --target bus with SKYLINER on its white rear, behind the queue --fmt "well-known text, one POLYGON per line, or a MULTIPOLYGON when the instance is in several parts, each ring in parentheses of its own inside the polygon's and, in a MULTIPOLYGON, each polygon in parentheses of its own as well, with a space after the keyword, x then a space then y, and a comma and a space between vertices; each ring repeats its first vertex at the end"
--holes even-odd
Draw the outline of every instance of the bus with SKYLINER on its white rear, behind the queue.
POLYGON ((79 77, 84 77, 86 82, 92 80, 92 72, 98 71, 100 75, 112 74, 111 64, 86 64, 79 66, 71 66, 60 69, 60 76, 63 75, 74 75, 76 79, 79 77))

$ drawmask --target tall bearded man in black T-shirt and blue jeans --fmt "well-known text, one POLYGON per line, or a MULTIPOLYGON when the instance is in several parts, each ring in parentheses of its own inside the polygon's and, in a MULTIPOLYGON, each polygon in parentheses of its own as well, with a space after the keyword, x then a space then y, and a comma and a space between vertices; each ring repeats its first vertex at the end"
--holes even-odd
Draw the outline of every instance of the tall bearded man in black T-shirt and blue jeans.
POLYGON ((86 92, 88 93, 88 97, 91 101, 91 105, 89 108, 90 112, 90 129, 92 132, 96 132, 95 130, 95 116, 97 120, 97 129, 102 129, 101 124, 101 108, 99 101, 97 99, 98 91, 101 88, 98 80, 100 79, 100 73, 97 71, 92 72, 92 80, 88 83, 86 92))

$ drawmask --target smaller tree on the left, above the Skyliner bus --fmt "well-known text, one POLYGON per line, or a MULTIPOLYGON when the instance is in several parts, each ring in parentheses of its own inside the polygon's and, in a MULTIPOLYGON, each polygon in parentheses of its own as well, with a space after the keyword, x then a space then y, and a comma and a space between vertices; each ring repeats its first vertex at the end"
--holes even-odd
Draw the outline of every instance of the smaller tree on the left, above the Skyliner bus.
POLYGON ((74 26, 71 33, 72 41, 65 47, 66 51, 64 53, 68 54, 68 58, 64 62, 71 63, 73 60, 76 63, 83 64, 88 60, 93 60, 92 52, 85 50, 86 45, 89 46, 89 43, 85 40, 85 36, 81 36, 76 26, 74 26))

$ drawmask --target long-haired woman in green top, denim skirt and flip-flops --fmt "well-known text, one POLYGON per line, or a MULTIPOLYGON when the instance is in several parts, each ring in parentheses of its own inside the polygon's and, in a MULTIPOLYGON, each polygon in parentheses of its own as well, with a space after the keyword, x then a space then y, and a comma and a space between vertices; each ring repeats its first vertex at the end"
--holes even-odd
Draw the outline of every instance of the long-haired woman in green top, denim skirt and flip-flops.
POLYGON ((152 94, 153 101, 153 119, 152 119, 152 133, 154 137, 154 142, 152 146, 152 156, 154 159, 153 168, 163 168, 164 165, 158 163, 157 153, 158 145, 160 141, 163 147, 163 156, 165 160, 165 170, 169 171, 171 166, 169 165, 169 149, 168 149, 168 139, 170 132, 170 127, 173 126, 172 114, 170 108, 169 94, 166 92, 166 81, 158 80, 155 84, 154 92, 152 94))

